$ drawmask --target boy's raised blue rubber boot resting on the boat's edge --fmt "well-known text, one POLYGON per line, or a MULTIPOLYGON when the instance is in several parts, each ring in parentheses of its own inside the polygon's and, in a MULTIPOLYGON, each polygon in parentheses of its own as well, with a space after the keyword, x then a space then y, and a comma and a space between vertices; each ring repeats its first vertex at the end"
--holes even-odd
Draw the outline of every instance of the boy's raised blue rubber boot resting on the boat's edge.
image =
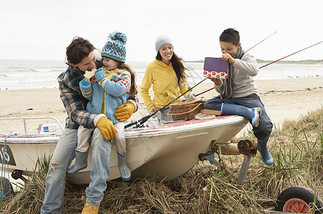
POLYGON ((247 108, 245 106, 222 103, 221 115, 237 114, 250 118, 253 127, 258 127, 262 108, 247 108))

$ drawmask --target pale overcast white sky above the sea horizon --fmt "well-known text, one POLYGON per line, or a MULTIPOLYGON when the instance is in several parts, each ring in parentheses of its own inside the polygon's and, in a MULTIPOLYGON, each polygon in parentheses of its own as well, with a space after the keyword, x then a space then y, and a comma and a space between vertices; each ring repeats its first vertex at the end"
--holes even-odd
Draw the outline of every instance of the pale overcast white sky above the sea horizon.
MULTIPOLYGON (((102 49, 117 30, 128 36, 126 61, 153 61, 160 35, 185 61, 203 60, 220 57, 220 34, 235 28, 245 51, 257 44, 248 52, 274 61, 323 41, 322 8, 322 0, 1 1, 0 59, 63 61, 74 36, 102 49)), ((322 53, 323 42, 284 60, 322 53)))

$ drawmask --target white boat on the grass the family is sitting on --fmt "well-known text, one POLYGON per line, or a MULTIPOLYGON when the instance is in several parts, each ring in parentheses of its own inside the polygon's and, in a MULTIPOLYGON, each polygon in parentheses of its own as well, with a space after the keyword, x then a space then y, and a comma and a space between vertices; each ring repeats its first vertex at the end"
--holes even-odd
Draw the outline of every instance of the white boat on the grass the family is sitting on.
MULTIPOLYGON (((32 118, 0 118, 6 119, 25 121, 32 118)), ((53 154, 63 131, 61 123, 56 118, 53 119, 57 123, 39 126, 36 134, 0 134, 1 162, 5 160, 5 168, 8 168, 9 172, 20 170, 23 175, 30 175, 39 158, 53 154)), ((207 120, 175 121, 151 126, 156 122, 148 121, 149 127, 125 129, 126 161, 132 179, 145 178, 149 173, 154 173, 159 178, 183 175, 198 163, 200 153, 210 151, 211 141, 227 143, 245 127, 248 120, 242 116, 217 116, 207 120)), ((120 178, 115 146, 112 146, 110 169, 108 180, 120 178)), ((73 175, 67 175, 67 181, 90 183, 90 172, 91 152, 88 156, 88 167, 73 175)))

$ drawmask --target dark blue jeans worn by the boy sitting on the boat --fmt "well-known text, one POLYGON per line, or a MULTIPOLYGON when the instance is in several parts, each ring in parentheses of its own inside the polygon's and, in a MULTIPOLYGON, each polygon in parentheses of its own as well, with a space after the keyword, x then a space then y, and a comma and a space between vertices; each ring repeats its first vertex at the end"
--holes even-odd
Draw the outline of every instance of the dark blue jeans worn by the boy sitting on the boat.
POLYGON ((220 111, 222 103, 235 104, 245 106, 247 108, 262 108, 262 115, 260 116, 259 125, 257 128, 253 127, 253 132, 258 141, 264 141, 267 143, 270 133, 272 133, 273 124, 272 121, 270 121, 270 118, 265 110, 265 106, 257 93, 252 93, 249 96, 230 99, 222 99, 220 96, 217 96, 206 101, 204 103, 204 108, 220 111))

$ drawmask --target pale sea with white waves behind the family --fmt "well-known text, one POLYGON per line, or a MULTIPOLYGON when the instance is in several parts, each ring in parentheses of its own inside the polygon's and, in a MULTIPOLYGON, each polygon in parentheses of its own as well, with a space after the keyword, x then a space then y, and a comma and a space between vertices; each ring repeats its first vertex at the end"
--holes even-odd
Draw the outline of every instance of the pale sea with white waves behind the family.
MULTIPOLYGON (((145 68, 150 62, 126 62, 136 73, 140 86, 145 68)), ((260 72, 255 79, 319 78, 323 77, 323 61, 260 61, 260 72)), ((205 79, 202 61, 185 61, 188 68, 188 86, 192 87, 205 79)), ((0 59, 0 90, 24 90, 36 88, 58 88, 57 76, 66 71, 67 65, 58 60, 13 60, 0 59)), ((210 83, 205 80, 203 83, 210 83)))

